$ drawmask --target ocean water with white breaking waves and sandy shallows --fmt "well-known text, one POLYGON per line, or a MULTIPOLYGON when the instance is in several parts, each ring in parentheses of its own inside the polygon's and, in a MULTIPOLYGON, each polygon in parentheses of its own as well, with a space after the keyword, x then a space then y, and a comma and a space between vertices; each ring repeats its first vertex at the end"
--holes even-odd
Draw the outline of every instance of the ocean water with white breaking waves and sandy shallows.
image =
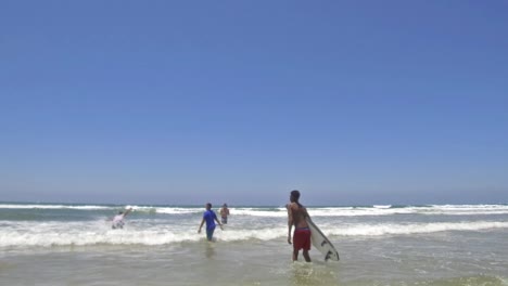
POLYGON ((292 262, 283 206, 230 206, 211 243, 204 206, 0 203, 0 285, 508 285, 508 205, 307 208, 340 261, 292 262))

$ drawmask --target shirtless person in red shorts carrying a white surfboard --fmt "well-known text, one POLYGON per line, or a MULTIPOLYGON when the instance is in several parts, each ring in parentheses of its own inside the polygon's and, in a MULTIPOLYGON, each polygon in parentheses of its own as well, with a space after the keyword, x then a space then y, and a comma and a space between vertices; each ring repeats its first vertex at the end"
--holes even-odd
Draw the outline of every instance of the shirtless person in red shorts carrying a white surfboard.
POLYGON ((305 261, 310 262, 310 230, 306 221, 309 218, 307 209, 299 203, 300 192, 294 190, 291 192, 290 200, 285 207, 288 208, 288 243, 291 244, 291 229, 294 225, 293 233, 293 261, 299 260, 300 249, 303 249, 305 261))

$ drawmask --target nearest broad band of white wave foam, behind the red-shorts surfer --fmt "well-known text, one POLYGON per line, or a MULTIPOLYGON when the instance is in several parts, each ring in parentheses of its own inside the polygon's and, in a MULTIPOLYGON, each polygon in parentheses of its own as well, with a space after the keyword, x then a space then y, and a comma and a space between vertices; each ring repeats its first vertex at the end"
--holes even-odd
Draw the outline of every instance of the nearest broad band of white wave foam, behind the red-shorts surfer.
MULTIPOLYGON (((251 225, 252 226, 252 225, 251 225)), ((505 221, 474 222, 430 222, 430 223, 333 223, 319 224, 321 231, 333 239, 333 236, 411 235, 446 231, 486 231, 508 229, 505 221)), ((147 224, 141 221, 126 225, 124 230, 111 230, 104 221, 93 222, 2 222, 0 229, 0 247, 51 247, 51 246, 87 246, 87 245, 170 245, 182 242, 203 239, 204 231, 196 233, 198 223, 187 224, 147 224)), ((215 237, 225 242, 249 239, 284 240, 287 226, 283 223, 271 223, 264 226, 245 229, 242 225, 219 227, 215 237)))

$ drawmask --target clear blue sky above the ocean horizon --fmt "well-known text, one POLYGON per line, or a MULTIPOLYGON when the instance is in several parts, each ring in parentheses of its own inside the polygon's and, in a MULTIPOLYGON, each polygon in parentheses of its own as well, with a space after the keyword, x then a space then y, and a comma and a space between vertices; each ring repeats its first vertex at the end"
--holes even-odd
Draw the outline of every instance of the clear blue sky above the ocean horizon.
POLYGON ((2 1, 0 200, 508 203, 506 1, 2 1))

